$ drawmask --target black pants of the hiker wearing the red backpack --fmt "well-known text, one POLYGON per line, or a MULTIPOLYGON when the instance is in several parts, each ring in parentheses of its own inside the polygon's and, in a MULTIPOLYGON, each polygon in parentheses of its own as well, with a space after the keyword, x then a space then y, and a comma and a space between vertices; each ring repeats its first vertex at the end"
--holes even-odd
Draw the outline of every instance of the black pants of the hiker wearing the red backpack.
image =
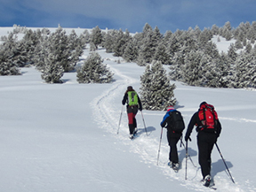
POLYGON ((203 179, 206 175, 211 175, 212 149, 216 141, 216 134, 199 132, 197 134, 198 160, 201 166, 203 179))

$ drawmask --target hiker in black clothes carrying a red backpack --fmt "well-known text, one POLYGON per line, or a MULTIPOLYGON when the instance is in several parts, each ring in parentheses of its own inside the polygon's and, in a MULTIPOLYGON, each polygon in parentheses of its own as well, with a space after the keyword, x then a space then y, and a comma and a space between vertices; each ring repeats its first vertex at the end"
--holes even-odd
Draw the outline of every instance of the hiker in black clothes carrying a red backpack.
POLYGON ((196 111, 190 119, 185 135, 186 142, 188 142, 188 140, 191 142, 189 136, 194 126, 196 126, 197 132, 198 160, 203 175, 202 181, 204 186, 209 187, 210 183, 213 182, 211 177, 212 149, 221 131, 217 112, 214 111, 214 107, 211 104, 202 102, 198 111, 196 111))

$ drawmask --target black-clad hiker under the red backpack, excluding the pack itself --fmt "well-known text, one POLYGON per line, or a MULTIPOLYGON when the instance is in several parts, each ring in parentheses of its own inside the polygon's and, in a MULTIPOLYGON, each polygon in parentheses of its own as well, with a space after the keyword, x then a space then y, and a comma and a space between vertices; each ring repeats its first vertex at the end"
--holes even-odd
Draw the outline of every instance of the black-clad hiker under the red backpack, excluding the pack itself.
MULTIPOLYGON (((192 118, 190 119, 190 122, 188 124, 188 129, 185 135, 185 141, 188 142, 191 141, 190 134, 196 126, 197 131, 197 147, 198 147, 198 160, 199 165, 201 166, 201 172, 203 175, 203 183, 204 186, 209 187, 212 177, 211 177, 211 154, 212 149, 214 146, 214 143, 217 142, 218 137, 220 136, 221 131, 221 125, 219 119, 215 120, 214 129, 207 130, 207 128, 204 128, 204 121, 199 119, 199 111, 204 107, 204 105, 207 104, 206 102, 203 102, 200 104, 200 108, 192 118)), ((211 105, 212 106, 212 105, 211 105)), ((216 113, 217 116, 217 113, 216 113)))

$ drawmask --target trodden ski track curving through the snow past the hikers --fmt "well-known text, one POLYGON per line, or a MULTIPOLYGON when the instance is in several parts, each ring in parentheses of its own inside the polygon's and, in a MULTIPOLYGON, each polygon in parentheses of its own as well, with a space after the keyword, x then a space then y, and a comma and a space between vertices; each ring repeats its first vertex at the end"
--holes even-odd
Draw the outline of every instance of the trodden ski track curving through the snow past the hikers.
MULTIPOLYGON (((128 125, 126 117, 126 110, 125 106, 122 109, 119 109, 118 106, 121 106, 121 100, 123 98, 123 93, 128 85, 132 85, 132 83, 138 82, 136 79, 132 79, 128 77, 113 66, 109 66, 112 72, 115 75, 122 78, 122 80, 115 81, 113 86, 109 88, 107 91, 103 92, 101 96, 96 97, 92 103, 92 110, 93 110, 93 117, 96 117, 94 120, 98 123, 100 128, 103 128, 106 132, 113 135, 113 140, 116 142, 121 142, 125 146, 129 146, 129 151, 136 153, 140 156, 141 162, 145 163, 150 166, 157 166, 161 172, 170 180, 177 180, 180 182, 181 186, 184 186, 191 190, 196 191, 212 191, 212 189, 203 188, 202 184, 199 182, 201 180, 201 170, 200 166, 197 162, 194 162, 196 167, 191 164, 188 158, 188 180, 185 180, 185 165, 186 165, 186 158, 183 157, 181 160, 181 168, 179 173, 174 173, 172 169, 169 168, 167 165, 168 161, 166 157, 169 156, 169 146, 161 145, 159 163, 156 165, 156 157, 159 149, 159 138, 153 137, 150 133, 148 136, 145 132, 144 125, 138 124, 138 134, 140 135, 134 141, 129 139, 129 132, 128 132, 128 125), (120 91, 122 92, 120 95, 120 91), (122 96, 122 98, 120 97, 122 96), (117 101, 117 102, 116 102, 117 101), (118 103, 118 104, 116 104, 118 103), (119 105, 120 104, 120 105, 119 105), (119 119, 122 113, 122 121, 119 127, 119 134, 117 134, 119 119), (149 147, 150 146, 150 147, 149 147)), ((143 111, 144 115, 159 115, 159 113, 148 113, 147 111, 143 111)), ((140 111, 137 114, 137 119, 140 118, 140 111)), ((162 116, 162 115, 161 115, 162 116)), ((256 123, 256 120, 252 119, 232 119, 232 118, 224 118, 220 117, 220 119, 228 119, 228 120, 236 120, 236 121, 246 121, 246 122, 253 122, 256 123)), ((146 120, 147 122, 147 120, 146 120)), ((147 126, 147 125, 146 125, 147 126)), ((179 142, 180 143, 180 142, 179 142)), ((233 184, 228 178, 228 174, 224 173, 224 176, 216 175, 214 176, 215 185, 217 191, 232 191, 232 192, 244 192, 238 183, 233 184), (225 183, 225 185, 223 185, 225 183)), ((154 177, 154 175, 152 176, 154 177)), ((236 181, 236 178, 235 178, 236 181)), ((254 188, 250 188, 250 181, 248 180, 247 183, 243 183, 247 186, 248 190, 246 191, 253 191, 254 188)))

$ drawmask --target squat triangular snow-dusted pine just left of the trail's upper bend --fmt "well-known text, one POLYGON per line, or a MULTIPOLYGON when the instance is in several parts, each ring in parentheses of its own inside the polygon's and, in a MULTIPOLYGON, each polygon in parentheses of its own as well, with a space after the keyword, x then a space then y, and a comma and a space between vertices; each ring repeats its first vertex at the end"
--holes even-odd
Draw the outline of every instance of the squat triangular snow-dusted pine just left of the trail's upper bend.
POLYGON ((100 54, 92 52, 84 60, 84 65, 78 68, 76 77, 79 83, 108 83, 113 80, 113 75, 103 64, 100 54))

